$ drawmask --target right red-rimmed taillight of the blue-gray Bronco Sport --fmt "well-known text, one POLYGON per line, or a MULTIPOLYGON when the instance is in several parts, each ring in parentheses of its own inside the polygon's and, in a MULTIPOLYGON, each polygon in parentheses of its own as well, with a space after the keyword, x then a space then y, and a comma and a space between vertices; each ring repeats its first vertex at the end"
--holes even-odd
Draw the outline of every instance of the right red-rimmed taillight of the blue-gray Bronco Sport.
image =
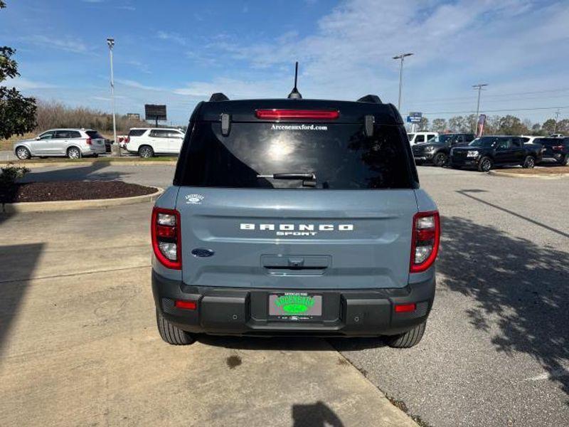
POLYGON ((413 216, 410 272, 427 270, 437 258, 440 241, 440 218, 437 211, 413 216))

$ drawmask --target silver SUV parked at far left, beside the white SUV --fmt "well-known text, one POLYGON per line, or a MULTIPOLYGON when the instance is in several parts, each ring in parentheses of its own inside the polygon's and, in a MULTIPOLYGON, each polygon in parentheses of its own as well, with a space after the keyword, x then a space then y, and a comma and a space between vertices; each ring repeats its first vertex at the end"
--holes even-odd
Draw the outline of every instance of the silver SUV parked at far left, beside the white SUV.
POLYGON ((105 153, 105 137, 90 129, 51 129, 34 139, 14 144, 14 153, 21 160, 38 157, 97 157, 105 153))

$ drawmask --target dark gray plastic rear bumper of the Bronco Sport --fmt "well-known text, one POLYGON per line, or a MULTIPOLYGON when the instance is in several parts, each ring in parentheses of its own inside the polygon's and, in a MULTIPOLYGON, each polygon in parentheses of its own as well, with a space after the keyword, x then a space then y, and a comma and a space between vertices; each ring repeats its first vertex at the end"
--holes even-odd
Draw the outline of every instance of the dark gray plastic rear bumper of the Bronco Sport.
POLYGON ((181 330, 219 335, 311 335, 371 337, 406 332, 427 319, 435 297, 435 277, 405 288, 366 290, 277 290, 188 286, 152 271, 156 308, 181 330), (269 320, 268 299, 276 292, 322 295, 322 317, 314 320, 269 320), (196 302, 196 310, 174 306, 196 302), (395 304, 415 302, 414 312, 396 313, 395 304))

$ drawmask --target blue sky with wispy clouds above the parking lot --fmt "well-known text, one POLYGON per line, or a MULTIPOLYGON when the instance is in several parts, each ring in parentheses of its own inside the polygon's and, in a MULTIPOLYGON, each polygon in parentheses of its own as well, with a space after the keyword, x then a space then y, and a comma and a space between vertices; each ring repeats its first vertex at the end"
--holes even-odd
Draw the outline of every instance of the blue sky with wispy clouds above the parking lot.
POLYGON ((568 1, 8 0, 0 44, 17 49, 26 95, 110 111, 115 46, 118 112, 165 103, 185 124, 213 92, 284 97, 300 61, 304 97, 376 93, 430 119, 476 108, 543 122, 569 117, 568 1), (523 110, 545 107, 544 110, 523 110), (442 112, 448 112, 443 114, 442 112))

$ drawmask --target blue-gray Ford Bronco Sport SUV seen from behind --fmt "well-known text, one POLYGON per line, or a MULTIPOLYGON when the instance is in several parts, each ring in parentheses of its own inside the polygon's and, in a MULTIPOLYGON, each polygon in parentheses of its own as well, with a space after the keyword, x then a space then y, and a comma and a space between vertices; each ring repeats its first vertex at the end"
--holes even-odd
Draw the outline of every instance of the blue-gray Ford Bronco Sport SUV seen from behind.
POLYGON ((435 297, 440 222, 403 120, 376 95, 292 95, 214 94, 193 111, 151 217, 159 333, 412 347, 435 297))

